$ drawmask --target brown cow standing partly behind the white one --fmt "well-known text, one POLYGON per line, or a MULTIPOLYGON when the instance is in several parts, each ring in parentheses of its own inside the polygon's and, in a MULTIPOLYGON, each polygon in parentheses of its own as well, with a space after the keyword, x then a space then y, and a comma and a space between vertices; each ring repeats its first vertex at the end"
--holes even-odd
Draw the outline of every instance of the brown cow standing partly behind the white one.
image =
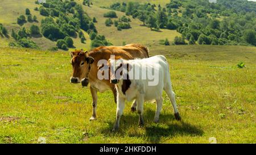
MULTIPOLYGON (((98 61, 108 61, 111 55, 121 57, 125 60, 131 60, 134 58, 147 58, 148 49, 138 44, 128 44, 122 47, 110 46, 110 47, 98 47, 90 52, 75 51, 71 52, 71 64, 73 66, 73 76, 70 79, 71 83, 80 83, 82 86, 88 86, 90 83, 90 93, 93 98, 93 115, 90 120, 96 120, 96 108, 97 108, 97 92, 103 93, 106 90, 112 90, 114 94, 115 103, 117 102, 117 91, 115 86, 110 83, 109 79, 98 79, 98 61)), ((134 100, 133 105, 136 104, 134 100)), ((133 106, 134 107, 134 106, 133 106)), ((134 108, 132 111, 135 111, 134 108)))

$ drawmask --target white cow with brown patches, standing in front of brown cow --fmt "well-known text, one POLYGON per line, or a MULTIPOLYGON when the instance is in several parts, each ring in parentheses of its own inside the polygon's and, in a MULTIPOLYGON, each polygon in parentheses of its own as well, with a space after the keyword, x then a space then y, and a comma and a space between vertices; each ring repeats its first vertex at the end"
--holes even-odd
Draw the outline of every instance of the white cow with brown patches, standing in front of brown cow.
POLYGON ((172 83, 169 65, 164 56, 135 60, 109 60, 110 82, 117 89, 117 116, 113 131, 119 128, 119 120, 125 108, 125 100, 137 100, 132 105, 139 114, 139 125, 143 125, 143 104, 145 100, 156 100, 156 112, 154 122, 159 121, 159 114, 163 104, 163 90, 166 91, 174 107, 175 119, 181 120, 176 106, 175 93, 172 91, 172 83), (138 73, 138 70, 140 72, 138 73), (146 72, 145 72, 146 70, 146 72), (147 76, 143 76, 146 73, 147 76), (154 79, 152 75, 154 74, 154 79), (151 77, 149 76, 151 75, 151 77), (138 78, 139 77, 139 78, 138 78), (152 81, 154 80, 154 81, 152 81))

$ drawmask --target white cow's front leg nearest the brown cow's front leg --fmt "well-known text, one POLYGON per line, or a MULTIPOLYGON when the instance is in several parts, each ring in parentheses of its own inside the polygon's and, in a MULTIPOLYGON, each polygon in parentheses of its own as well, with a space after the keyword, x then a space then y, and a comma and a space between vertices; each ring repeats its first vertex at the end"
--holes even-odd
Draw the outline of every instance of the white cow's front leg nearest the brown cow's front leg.
POLYGON ((123 115, 124 108, 125 108, 125 99, 118 97, 118 95, 117 95, 117 115, 116 115, 115 125, 114 125, 112 132, 115 132, 118 130, 119 122, 120 122, 121 116, 123 115))

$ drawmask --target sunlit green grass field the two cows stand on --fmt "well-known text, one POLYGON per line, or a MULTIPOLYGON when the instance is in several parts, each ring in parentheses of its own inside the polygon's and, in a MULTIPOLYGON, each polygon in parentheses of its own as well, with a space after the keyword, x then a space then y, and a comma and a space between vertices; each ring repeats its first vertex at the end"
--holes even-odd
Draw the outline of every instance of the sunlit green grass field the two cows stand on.
POLYGON ((112 93, 100 93, 98 119, 90 122, 88 88, 69 83, 68 52, 0 48, 0 143, 256 143, 256 48, 151 46, 168 58, 182 122, 164 105, 152 123, 155 103, 144 106, 146 125, 126 103, 119 132, 112 93), (243 61, 246 68, 237 68, 243 61))

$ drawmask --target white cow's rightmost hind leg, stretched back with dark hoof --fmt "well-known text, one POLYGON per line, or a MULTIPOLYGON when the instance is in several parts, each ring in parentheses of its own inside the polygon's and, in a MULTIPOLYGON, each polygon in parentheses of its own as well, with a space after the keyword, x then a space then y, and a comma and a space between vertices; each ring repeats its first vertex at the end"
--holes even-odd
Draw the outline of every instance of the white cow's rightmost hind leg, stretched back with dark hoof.
POLYGON ((169 97, 170 100, 171 100, 172 107, 174 107, 174 116, 175 116, 175 119, 176 119, 176 120, 181 120, 179 111, 177 110, 177 104, 176 104, 176 100, 175 100, 175 93, 174 93, 174 91, 172 91, 172 86, 171 86, 171 84, 170 84, 170 85, 167 85, 167 86, 164 88, 164 91, 166 91, 168 97, 169 97))

